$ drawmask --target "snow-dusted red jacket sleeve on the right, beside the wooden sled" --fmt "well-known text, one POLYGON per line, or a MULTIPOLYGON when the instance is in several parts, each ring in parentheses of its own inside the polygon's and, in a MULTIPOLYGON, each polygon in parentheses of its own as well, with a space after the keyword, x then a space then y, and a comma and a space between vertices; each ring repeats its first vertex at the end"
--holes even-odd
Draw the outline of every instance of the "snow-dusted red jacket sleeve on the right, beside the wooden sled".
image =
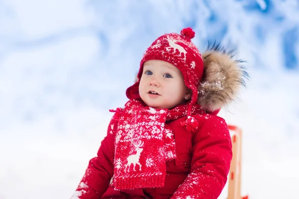
POLYGON ((191 171, 172 199, 217 199, 223 190, 232 159, 232 144, 224 119, 198 116, 203 125, 193 135, 191 171))

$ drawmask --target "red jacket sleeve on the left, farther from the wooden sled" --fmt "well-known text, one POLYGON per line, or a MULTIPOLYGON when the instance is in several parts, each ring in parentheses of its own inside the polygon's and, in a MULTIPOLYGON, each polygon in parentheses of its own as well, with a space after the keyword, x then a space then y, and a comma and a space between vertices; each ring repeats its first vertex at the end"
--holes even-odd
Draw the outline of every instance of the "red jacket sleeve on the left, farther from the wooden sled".
POLYGON ((100 199, 108 189, 114 171, 116 114, 110 121, 107 136, 101 142, 97 157, 89 161, 85 175, 71 199, 100 199))

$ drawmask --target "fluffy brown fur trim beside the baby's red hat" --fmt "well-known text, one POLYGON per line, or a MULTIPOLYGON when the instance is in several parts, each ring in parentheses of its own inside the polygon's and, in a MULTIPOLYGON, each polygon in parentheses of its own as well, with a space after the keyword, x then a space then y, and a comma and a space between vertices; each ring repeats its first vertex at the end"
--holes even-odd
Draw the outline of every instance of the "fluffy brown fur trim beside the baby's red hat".
POLYGON ((233 51, 226 52, 219 44, 208 47, 202 57, 204 72, 198 87, 197 103, 213 112, 236 98, 249 75, 242 66, 244 61, 233 59, 233 51))

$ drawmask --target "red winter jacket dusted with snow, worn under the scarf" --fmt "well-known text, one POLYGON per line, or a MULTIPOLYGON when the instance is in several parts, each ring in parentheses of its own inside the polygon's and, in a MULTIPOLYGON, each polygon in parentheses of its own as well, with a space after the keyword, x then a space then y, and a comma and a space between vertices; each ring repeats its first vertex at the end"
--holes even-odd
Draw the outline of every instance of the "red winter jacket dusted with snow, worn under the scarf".
POLYGON ((115 190, 110 185, 117 129, 111 125, 115 122, 114 115, 97 157, 90 160, 72 199, 217 199, 227 181, 232 159, 229 130, 221 117, 211 114, 192 117, 199 123, 192 133, 181 126, 186 117, 167 123, 174 133, 177 158, 166 162, 163 188, 115 190))

